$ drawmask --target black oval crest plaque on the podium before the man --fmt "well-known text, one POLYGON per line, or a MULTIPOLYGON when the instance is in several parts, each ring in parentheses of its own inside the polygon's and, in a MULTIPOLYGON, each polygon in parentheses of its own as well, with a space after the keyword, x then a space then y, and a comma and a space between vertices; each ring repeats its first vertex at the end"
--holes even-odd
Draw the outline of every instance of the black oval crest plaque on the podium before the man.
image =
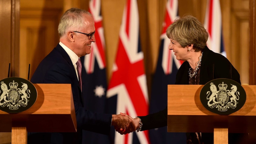
POLYGON ((30 81, 20 77, 9 77, 0 81, 0 110, 19 113, 35 103, 37 90, 30 81))

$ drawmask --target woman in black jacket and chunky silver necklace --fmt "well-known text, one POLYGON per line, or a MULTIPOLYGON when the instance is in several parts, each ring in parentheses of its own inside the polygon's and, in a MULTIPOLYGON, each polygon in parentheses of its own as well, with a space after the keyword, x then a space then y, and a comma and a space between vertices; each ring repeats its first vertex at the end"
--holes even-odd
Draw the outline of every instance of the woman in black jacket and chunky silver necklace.
MULTIPOLYGON (((184 60, 176 75, 175 84, 204 85, 217 78, 229 78, 241 84, 238 71, 228 59, 206 46, 208 32, 197 18, 187 15, 176 19, 167 28, 166 35, 170 39, 169 49, 173 50, 176 59, 184 60)), ((167 107, 154 114, 138 116, 134 121, 137 131, 167 126, 167 107)), ((123 131, 119 132, 125 134, 123 131)), ((187 143, 211 144, 213 133, 187 133, 187 143)), ((230 139, 229 143, 235 142, 230 139)))

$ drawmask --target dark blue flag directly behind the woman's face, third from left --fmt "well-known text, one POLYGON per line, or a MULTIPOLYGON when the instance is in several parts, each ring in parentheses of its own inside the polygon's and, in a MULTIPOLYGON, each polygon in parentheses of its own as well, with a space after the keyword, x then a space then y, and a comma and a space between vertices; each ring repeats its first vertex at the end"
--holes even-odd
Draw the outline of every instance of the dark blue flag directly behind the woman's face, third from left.
MULTIPOLYGON (((168 0, 163 23, 157 68, 154 74, 149 113, 156 113, 167 106, 167 85, 174 84, 176 73, 183 61, 178 61, 173 50, 169 50, 170 39, 166 29, 178 18, 178 0, 168 0)), ((186 133, 167 132, 167 126, 149 130, 151 144, 186 144, 186 133)))

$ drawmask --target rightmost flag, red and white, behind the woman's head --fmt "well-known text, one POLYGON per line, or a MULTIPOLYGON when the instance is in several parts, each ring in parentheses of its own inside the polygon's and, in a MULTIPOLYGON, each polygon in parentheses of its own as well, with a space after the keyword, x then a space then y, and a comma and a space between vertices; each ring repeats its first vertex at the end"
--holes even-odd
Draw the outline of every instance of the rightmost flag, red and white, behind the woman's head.
POLYGON ((207 46, 215 53, 221 53, 226 57, 222 34, 222 17, 219 0, 208 0, 204 27, 209 33, 207 46))

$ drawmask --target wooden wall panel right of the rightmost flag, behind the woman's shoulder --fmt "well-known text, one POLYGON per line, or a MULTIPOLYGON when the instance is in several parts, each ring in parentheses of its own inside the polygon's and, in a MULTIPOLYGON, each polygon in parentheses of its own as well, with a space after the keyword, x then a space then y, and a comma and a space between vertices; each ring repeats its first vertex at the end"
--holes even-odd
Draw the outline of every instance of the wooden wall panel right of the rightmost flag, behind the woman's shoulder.
POLYGON ((242 84, 249 84, 249 0, 231 1, 231 40, 229 60, 240 73, 242 84))

